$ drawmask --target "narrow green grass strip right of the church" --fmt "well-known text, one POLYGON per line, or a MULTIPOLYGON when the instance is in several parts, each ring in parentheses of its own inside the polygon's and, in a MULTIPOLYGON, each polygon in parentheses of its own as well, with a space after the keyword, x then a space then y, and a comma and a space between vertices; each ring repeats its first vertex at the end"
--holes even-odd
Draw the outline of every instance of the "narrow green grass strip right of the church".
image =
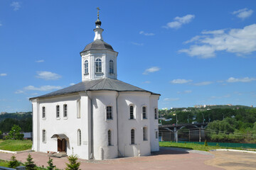
POLYGON ((176 142, 159 142, 160 147, 180 147, 186 149, 196 149, 202 151, 210 151, 211 149, 244 149, 241 147, 219 147, 219 146, 205 146, 196 143, 176 143, 176 142))

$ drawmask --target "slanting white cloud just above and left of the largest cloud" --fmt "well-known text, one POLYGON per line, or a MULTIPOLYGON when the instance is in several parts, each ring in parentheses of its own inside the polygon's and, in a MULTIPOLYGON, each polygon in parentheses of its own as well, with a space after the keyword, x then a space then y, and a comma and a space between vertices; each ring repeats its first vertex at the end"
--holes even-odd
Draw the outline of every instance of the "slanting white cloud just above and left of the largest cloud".
POLYGON ((166 26, 164 26, 164 28, 181 28, 183 24, 190 23, 193 20, 193 18, 195 18, 195 15, 191 14, 182 17, 176 16, 174 18, 174 21, 167 23, 166 26))

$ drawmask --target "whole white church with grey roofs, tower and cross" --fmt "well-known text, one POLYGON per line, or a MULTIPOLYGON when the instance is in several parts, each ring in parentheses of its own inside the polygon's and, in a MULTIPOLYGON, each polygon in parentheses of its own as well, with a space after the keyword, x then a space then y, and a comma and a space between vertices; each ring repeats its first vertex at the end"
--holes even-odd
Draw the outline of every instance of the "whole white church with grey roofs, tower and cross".
POLYGON ((99 13, 94 41, 80 52, 82 81, 30 98, 33 150, 80 159, 139 157, 159 151, 160 94, 117 79, 117 55, 103 41, 99 13))

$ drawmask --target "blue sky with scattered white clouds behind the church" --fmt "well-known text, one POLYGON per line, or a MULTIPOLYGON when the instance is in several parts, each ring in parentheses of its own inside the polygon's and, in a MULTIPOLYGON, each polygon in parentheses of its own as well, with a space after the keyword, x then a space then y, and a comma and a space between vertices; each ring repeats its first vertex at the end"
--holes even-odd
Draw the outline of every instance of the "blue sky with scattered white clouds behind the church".
POLYGON ((100 10, 118 79, 159 108, 256 105, 256 1, 0 1, 0 112, 81 81, 100 10))

